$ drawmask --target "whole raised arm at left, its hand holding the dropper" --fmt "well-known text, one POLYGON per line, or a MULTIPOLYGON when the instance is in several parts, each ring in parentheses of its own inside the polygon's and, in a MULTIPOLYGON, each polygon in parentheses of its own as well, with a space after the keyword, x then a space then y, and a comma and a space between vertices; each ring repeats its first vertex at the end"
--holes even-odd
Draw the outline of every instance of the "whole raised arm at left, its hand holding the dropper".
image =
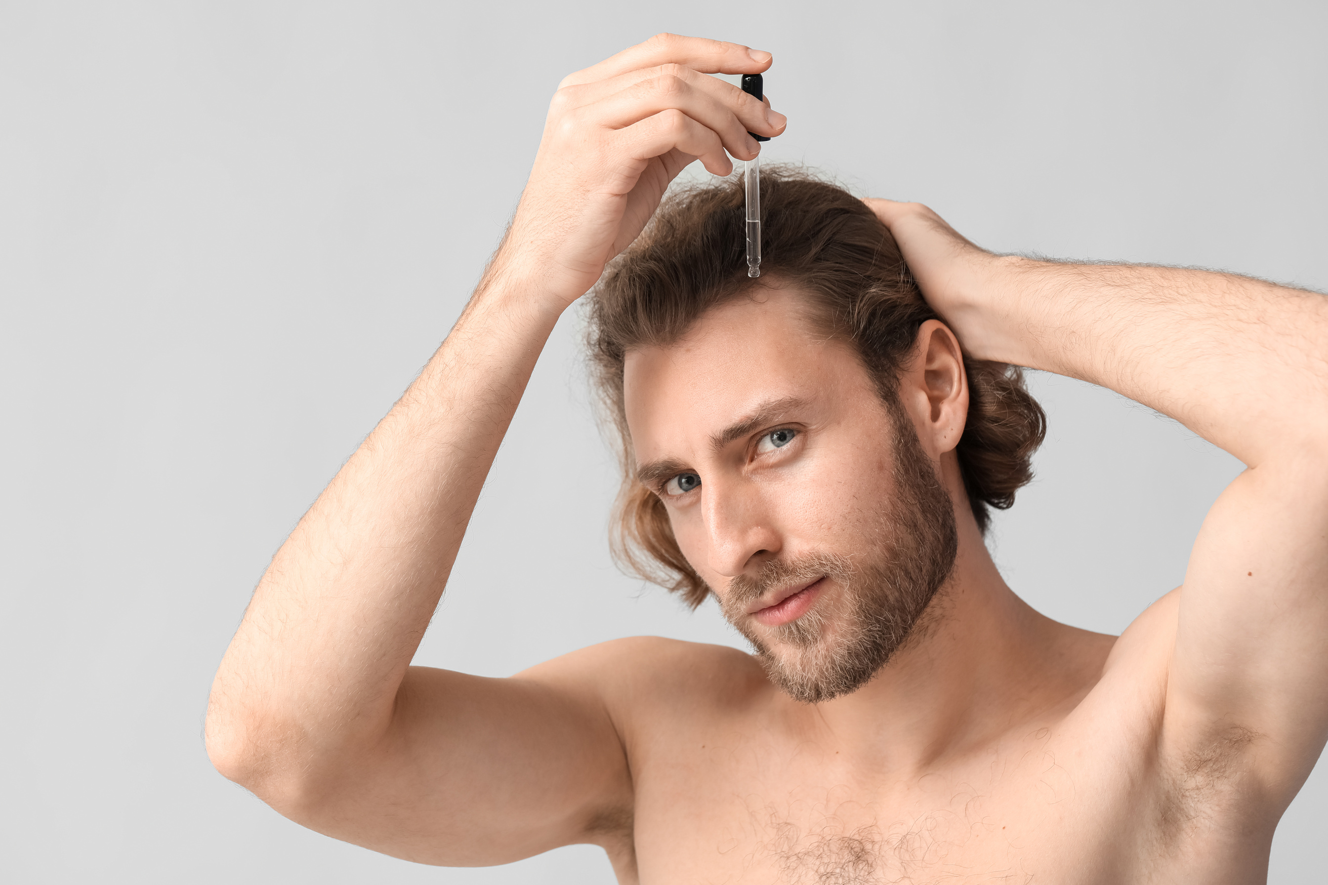
MULTIPOLYGON (((599 841, 631 807, 603 649, 511 679, 410 667, 544 341, 700 158, 782 117, 699 72, 768 53, 660 36, 563 81, 502 247, 418 379, 263 576, 207 716, 216 767, 313 829, 433 864, 599 841)), ((774 123, 772 122, 776 121, 774 123)), ((493 588, 505 592, 503 588, 493 588)), ((486 625, 477 625, 485 629, 486 625)))

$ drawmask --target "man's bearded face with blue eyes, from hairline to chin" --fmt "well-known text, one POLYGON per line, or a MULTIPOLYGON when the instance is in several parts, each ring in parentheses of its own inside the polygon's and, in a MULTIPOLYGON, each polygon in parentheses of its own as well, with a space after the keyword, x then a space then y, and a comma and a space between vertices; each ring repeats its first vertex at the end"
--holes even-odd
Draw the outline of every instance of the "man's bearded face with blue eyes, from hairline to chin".
POLYGON ((910 419, 802 310, 756 289, 676 345, 631 352, 624 385, 639 475, 683 555, 770 677, 817 702, 908 638, 956 533, 910 419))

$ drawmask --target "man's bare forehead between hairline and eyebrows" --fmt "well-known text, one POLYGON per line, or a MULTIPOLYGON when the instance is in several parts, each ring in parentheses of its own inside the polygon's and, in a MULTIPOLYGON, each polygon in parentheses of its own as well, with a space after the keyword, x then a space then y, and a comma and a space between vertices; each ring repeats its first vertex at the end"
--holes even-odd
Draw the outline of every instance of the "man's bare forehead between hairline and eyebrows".
POLYGON ((706 312, 673 345, 631 350, 623 393, 640 462, 685 456, 762 402, 875 395, 850 346, 813 328, 795 289, 773 287, 706 312))

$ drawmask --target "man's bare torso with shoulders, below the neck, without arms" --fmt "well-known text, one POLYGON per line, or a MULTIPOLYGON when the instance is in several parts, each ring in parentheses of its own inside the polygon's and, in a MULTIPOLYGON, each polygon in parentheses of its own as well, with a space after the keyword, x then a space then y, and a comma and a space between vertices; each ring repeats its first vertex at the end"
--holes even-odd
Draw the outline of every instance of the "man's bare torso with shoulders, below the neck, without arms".
POLYGON ((1158 763, 1175 596, 1114 642, 1066 628, 1078 654, 1046 683, 1078 690, 920 766, 846 754, 750 655, 631 646, 673 690, 632 706, 635 809, 602 843, 619 881, 1263 881, 1276 813, 1224 801, 1238 779, 1214 776, 1218 759, 1158 763))

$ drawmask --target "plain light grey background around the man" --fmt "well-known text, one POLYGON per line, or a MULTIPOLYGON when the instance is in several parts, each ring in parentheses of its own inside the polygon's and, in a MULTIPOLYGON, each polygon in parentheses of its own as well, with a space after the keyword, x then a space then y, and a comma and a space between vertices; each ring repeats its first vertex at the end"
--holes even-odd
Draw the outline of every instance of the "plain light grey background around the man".
MULTIPOLYGON (((562 76, 657 31, 774 52, 768 159, 995 249, 1328 285, 1321 3, 0 4, 8 881, 610 882, 599 849, 437 869, 216 775, 212 673, 268 556, 446 334, 562 76)), ((554 334, 417 661, 738 638, 620 576, 576 316, 554 334)), ((1239 470, 1054 377, 1011 584, 1118 632, 1239 470)), ((1251 601, 1256 605, 1258 601, 1251 601)), ((1321 866, 1328 779, 1274 844, 1321 866)))

